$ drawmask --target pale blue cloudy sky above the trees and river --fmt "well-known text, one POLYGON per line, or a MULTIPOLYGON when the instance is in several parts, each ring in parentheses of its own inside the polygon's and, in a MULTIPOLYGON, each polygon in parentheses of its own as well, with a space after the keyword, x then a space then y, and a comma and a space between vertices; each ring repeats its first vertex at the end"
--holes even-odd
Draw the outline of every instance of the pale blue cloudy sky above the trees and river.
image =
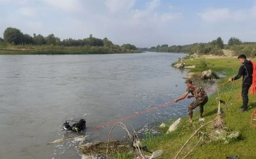
POLYGON ((60 40, 92 34, 137 48, 218 37, 256 42, 256 0, 0 0, 1 38, 8 27, 60 40))

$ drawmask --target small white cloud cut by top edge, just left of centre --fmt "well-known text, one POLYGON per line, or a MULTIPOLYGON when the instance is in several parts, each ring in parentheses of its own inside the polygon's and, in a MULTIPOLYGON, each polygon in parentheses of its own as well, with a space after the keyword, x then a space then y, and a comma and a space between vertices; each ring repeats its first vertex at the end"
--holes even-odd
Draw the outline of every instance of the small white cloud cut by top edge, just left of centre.
POLYGON ((112 12, 129 11, 134 6, 134 0, 107 0, 105 5, 112 12))

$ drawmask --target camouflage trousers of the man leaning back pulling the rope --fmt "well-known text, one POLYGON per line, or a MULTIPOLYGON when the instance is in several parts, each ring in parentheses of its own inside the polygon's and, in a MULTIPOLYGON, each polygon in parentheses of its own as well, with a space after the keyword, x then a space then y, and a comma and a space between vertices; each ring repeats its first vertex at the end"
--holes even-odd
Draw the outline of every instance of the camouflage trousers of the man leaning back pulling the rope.
POLYGON ((203 106, 208 102, 208 97, 198 97, 196 100, 194 100, 189 106, 188 106, 188 116, 193 116, 193 109, 195 109, 197 106, 199 106, 199 111, 201 114, 203 114, 203 106))

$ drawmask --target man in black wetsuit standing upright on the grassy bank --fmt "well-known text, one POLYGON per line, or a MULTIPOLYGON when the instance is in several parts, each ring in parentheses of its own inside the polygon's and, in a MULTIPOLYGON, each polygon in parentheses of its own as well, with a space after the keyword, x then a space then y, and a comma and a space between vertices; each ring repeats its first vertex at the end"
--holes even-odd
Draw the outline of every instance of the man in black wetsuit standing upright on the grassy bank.
POLYGON ((245 55, 239 55, 238 56, 239 62, 242 64, 239 68, 238 75, 236 75, 233 78, 229 78, 228 81, 234 81, 236 79, 240 79, 242 77, 242 106, 241 111, 247 111, 247 104, 248 104, 248 92, 250 89, 250 86, 252 85, 252 71, 253 66, 252 62, 250 60, 246 59, 245 55))

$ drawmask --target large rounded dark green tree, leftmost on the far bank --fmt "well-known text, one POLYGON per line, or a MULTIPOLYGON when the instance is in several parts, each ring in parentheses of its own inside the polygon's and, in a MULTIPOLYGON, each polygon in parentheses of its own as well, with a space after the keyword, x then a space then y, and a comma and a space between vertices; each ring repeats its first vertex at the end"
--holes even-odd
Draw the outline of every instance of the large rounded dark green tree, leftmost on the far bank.
POLYGON ((6 28, 4 31, 4 41, 6 43, 14 43, 15 45, 21 43, 23 33, 17 28, 6 28))

